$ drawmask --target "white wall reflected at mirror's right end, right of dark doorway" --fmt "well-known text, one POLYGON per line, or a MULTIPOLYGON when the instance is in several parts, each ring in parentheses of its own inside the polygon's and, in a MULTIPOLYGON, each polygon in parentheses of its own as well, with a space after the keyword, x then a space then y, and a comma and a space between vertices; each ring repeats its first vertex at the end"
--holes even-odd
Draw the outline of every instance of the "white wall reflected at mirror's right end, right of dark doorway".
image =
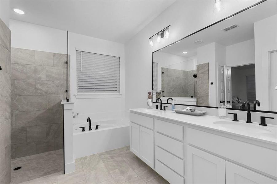
MULTIPOLYGON (((268 52, 277 50, 277 16, 271 16, 254 23, 256 98, 261 102, 257 109, 269 109, 268 52)), ((275 72, 275 77, 276 72, 275 72)), ((275 86, 274 86, 275 87, 275 86)), ((276 103, 276 102, 274 102, 276 103)))

